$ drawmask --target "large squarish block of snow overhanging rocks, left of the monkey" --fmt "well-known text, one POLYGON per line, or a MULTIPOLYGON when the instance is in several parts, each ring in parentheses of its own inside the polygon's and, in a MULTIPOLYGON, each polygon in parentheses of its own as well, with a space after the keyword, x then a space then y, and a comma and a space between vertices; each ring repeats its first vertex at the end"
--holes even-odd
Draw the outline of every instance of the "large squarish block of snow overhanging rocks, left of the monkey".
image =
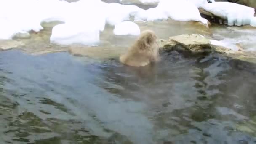
POLYGON ((92 26, 85 26, 82 24, 59 24, 53 27, 50 40, 51 43, 57 43, 61 45, 96 45, 100 41, 99 29, 95 29, 92 26))

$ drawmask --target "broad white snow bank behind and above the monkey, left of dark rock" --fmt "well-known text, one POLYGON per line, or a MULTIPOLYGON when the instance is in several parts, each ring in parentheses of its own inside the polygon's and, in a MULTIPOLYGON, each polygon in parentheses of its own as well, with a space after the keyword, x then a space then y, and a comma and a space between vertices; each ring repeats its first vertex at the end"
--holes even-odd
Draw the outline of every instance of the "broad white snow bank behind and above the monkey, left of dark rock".
POLYGON ((205 22, 195 4, 187 0, 160 0, 156 8, 140 9, 135 15, 136 20, 202 21, 205 22))

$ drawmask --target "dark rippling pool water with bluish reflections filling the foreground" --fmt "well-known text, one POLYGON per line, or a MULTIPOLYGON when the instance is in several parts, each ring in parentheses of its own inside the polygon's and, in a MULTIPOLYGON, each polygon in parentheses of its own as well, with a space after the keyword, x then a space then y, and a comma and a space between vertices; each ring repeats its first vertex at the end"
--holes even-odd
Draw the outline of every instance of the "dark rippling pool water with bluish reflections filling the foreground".
POLYGON ((1 143, 256 143, 256 125, 251 133, 237 130, 256 123, 256 65, 219 55, 161 56, 134 68, 66 52, 1 52, 1 143))

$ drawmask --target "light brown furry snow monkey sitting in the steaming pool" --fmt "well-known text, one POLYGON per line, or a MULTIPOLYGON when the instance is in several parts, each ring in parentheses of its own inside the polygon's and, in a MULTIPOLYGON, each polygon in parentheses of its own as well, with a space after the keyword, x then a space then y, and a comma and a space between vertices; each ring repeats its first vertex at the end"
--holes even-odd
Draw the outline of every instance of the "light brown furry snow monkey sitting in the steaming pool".
POLYGON ((120 56, 120 61, 133 67, 146 66, 151 62, 159 61, 159 47, 155 32, 152 30, 141 32, 135 43, 120 56))

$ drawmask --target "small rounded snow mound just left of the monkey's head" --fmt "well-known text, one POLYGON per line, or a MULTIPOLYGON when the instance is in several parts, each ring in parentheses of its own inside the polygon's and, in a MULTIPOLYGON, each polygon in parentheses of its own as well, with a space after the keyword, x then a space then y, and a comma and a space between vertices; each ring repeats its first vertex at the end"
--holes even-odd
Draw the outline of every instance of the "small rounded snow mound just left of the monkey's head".
POLYGON ((131 21, 123 21, 115 25, 115 35, 140 35, 140 29, 137 24, 131 21))

